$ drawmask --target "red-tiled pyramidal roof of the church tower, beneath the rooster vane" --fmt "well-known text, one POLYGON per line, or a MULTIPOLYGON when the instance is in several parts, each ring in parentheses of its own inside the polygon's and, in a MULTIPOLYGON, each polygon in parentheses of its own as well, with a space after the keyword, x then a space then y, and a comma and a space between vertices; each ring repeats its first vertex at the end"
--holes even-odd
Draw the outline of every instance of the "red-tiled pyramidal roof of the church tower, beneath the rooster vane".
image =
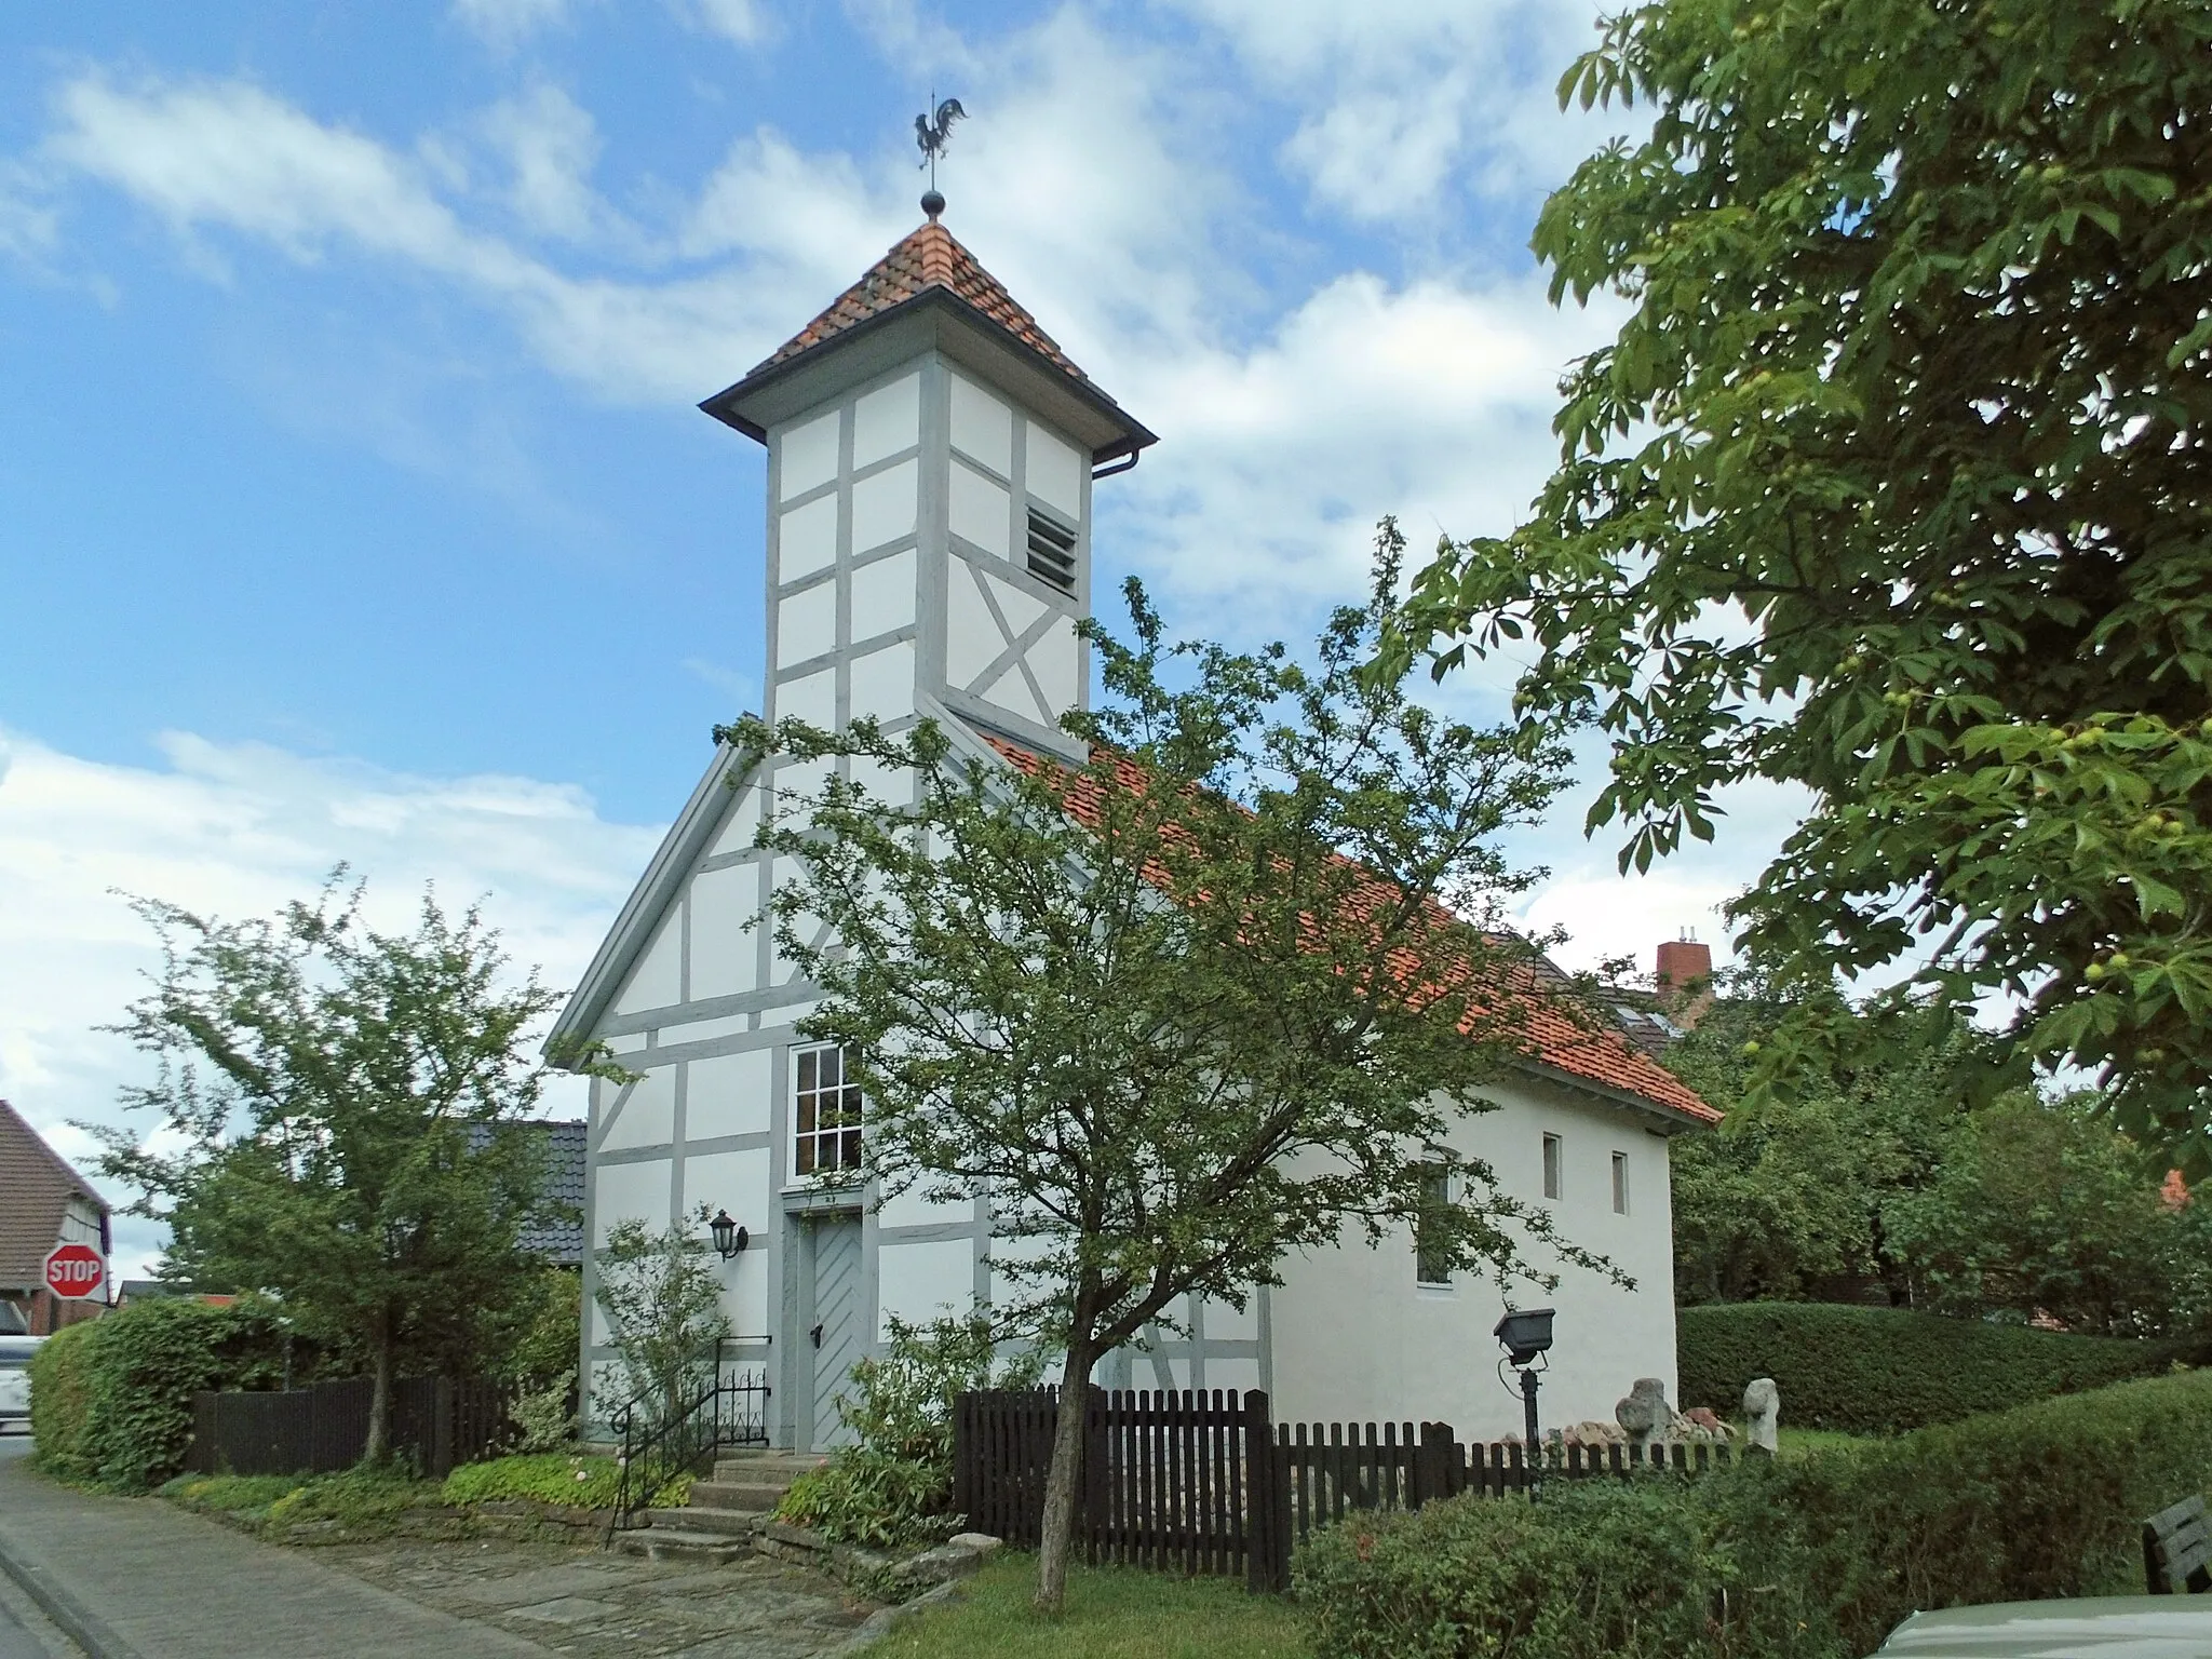
MULTIPOLYGON (((1042 398, 1068 436, 1091 447, 1093 462, 1133 456, 1157 442, 1155 434, 1084 374, 1006 285, 987 272, 960 239, 936 219, 902 237, 867 274, 838 294, 792 338, 757 363, 743 380, 701 403, 717 420, 748 438, 768 438, 768 427, 803 407, 799 389, 818 385, 814 365, 838 358, 863 363, 860 341, 878 336, 885 349, 911 349, 925 336, 953 358, 995 378, 1018 396, 1042 398), (914 338, 909 338, 909 334, 914 338)), ((849 372, 849 369, 847 369, 849 372)))

